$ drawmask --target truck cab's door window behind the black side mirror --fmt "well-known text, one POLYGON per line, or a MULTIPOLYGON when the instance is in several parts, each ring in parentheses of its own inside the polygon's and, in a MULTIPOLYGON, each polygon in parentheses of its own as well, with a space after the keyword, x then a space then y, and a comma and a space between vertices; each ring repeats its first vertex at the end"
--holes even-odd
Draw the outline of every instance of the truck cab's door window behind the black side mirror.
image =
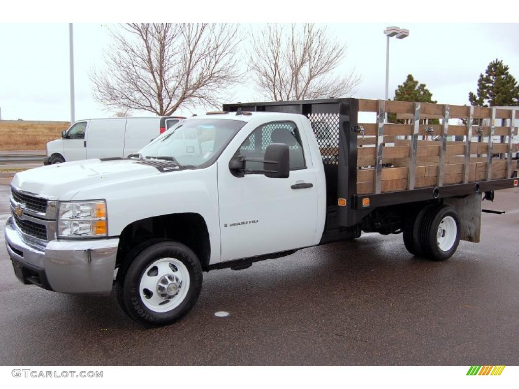
MULTIPOLYGON (((263 158, 267 146, 271 143, 284 143, 289 146, 290 170, 306 168, 301 136, 295 123, 291 121, 266 123, 256 128, 236 151, 236 156, 263 158)), ((263 170, 263 163, 245 162, 245 172, 248 170, 263 170)))

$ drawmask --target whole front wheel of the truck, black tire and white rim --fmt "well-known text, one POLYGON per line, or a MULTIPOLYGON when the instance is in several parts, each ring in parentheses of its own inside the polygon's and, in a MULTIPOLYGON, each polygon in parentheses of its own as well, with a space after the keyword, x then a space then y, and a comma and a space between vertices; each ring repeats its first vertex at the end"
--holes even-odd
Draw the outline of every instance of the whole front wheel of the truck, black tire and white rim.
POLYGON ((200 261, 189 247, 152 241, 136 247, 127 260, 117 276, 117 299, 135 322, 167 325, 193 308, 203 276, 200 261))

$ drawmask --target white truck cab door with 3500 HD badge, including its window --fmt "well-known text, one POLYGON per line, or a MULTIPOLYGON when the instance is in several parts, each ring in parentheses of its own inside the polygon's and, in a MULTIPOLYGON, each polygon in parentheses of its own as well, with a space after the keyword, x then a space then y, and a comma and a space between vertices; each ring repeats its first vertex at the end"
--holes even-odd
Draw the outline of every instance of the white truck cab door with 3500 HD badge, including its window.
POLYGON ((262 124, 248 135, 233 157, 262 158, 271 143, 289 146, 289 178, 269 178, 258 173, 263 162, 246 162, 242 176, 229 170, 228 159, 218 162, 222 261, 315 243, 316 168, 305 133, 298 130, 297 124, 282 120, 262 124))

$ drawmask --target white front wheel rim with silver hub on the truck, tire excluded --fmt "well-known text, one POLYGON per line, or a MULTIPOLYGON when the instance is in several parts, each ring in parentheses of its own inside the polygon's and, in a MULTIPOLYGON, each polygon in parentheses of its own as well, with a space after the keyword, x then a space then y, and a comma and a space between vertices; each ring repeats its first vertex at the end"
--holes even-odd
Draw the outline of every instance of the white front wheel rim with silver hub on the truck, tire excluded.
POLYGON ((189 272, 176 258, 160 258, 149 265, 141 276, 139 294, 146 308, 154 312, 175 309, 186 298, 189 272))

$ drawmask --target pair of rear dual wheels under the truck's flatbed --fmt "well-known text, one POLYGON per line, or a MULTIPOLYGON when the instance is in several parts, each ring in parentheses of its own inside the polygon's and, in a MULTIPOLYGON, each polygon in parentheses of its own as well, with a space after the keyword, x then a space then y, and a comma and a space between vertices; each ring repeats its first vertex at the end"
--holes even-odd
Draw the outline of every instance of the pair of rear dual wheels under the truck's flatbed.
POLYGON ((443 261, 459 244, 459 217, 448 205, 427 205, 407 217, 403 238, 407 251, 418 257, 443 261))

